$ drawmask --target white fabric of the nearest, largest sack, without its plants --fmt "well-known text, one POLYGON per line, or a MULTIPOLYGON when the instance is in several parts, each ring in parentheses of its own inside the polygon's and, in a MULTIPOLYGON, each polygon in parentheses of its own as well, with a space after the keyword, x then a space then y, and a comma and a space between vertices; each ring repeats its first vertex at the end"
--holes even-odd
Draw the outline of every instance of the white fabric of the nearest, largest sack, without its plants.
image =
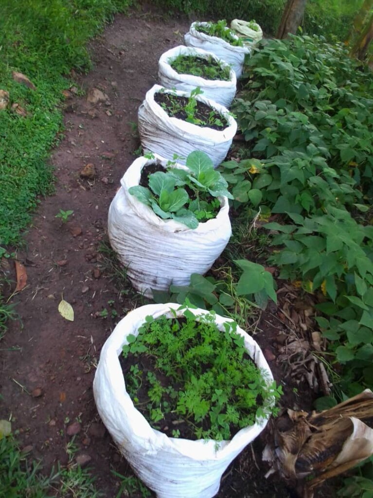
MULTIPOLYGON (((220 479, 228 465, 253 441, 267 424, 260 419, 241 429, 231 440, 222 441, 216 449, 214 440, 170 438, 152 429, 143 415, 133 406, 125 390, 124 377, 118 356, 122 353, 128 334, 137 336, 138 328, 147 315, 157 318, 179 304, 150 304, 131 311, 119 322, 103 346, 93 382, 98 412, 125 459, 137 476, 152 489, 158 498, 211 498, 219 490, 220 479)), ((193 309, 195 315, 206 310, 193 309)), ((182 311, 177 311, 182 316, 182 311)), ((224 330, 228 318, 216 316, 216 324, 224 330)), ((268 364, 257 343, 240 327, 237 332, 245 338, 245 347, 259 369, 273 381, 268 364)), ((249 486, 249 484, 248 484, 249 486)))

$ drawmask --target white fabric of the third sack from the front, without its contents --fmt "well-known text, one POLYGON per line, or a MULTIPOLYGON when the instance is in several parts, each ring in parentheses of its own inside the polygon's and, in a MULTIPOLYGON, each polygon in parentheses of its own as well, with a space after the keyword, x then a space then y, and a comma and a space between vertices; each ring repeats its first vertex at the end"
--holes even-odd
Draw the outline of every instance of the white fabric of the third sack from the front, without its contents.
MULTIPOLYGON (((154 94, 162 88, 154 85, 146 92, 145 100, 138 110, 138 132, 142 147, 166 159, 173 159, 174 153, 187 157, 193 150, 202 150, 210 156, 214 167, 218 167, 225 159, 237 131, 237 123, 228 109, 203 95, 196 96, 197 101, 207 104, 224 116, 228 126, 223 130, 170 118, 154 100, 154 94)), ((188 92, 165 90, 165 93, 189 97, 188 92)))

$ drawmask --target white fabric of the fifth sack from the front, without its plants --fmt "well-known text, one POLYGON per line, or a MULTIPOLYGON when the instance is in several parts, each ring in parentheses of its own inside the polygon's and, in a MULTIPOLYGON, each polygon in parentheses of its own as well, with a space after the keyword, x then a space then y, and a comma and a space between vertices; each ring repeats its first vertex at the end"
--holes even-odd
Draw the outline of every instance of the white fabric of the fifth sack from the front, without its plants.
MULTIPOLYGON (((202 48, 207 52, 212 52, 217 55, 219 59, 231 64, 232 69, 235 71, 237 79, 242 74, 242 66, 244 64, 245 55, 250 54, 249 47, 235 47, 228 43, 228 41, 218 38, 217 36, 209 36, 206 33, 197 31, 195 26, 207 26, 208 22, 192 22, 189 31, 184 35, 185 45, 188 47, 202 48)), ((226 28, 230 29, 230 28, 226 28)), ((236 35, 235 35, 236 36, 236 35)), ((238 39, 238 36, 236 36, 238 39)))

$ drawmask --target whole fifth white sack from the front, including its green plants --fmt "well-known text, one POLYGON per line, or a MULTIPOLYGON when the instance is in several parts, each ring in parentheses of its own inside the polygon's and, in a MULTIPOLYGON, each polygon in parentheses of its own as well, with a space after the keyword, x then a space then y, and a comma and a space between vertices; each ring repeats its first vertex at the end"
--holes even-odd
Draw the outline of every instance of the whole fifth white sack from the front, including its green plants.
POLYGON ((240 78, 249 47, 229 28, 225 20, 218 22, 193 22, 184 36, 188 47, 202 48, 232 66, 240 78))

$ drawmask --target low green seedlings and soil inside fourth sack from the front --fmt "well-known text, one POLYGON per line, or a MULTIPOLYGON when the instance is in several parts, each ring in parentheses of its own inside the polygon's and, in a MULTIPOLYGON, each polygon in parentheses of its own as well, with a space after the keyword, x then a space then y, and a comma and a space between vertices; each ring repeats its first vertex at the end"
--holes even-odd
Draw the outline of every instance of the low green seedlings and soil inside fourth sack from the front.
POLYGON ((192 74, 205 80, 230 80, 229 66, 223 66, 211 55, 205 58, 180 54, 174 59, 170 58, 168 63, 178 74, 192 74))

